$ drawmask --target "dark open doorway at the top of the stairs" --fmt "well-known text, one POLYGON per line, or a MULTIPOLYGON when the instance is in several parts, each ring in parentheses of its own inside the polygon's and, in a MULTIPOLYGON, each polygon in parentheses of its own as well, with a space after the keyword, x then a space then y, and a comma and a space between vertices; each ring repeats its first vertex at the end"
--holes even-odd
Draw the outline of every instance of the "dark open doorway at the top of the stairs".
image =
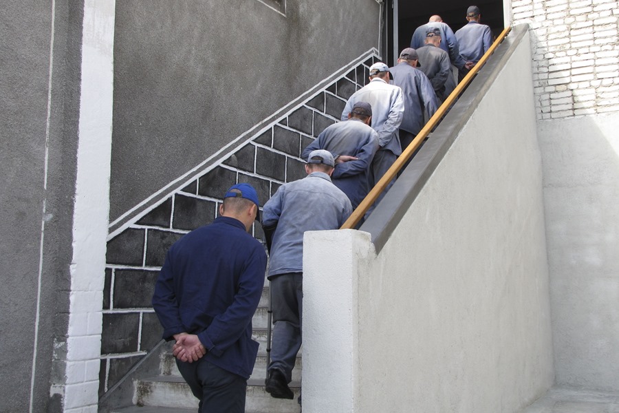
POLYGON ((420 25, 428 23, 433 14, 438 14, 454 32, 466 24, 466 9, 468 6, 478 6, 481 9, 481 23, 489 25, 492 35, 496 38, 506 23, 503 21, 503 0, 444 0, 444 1, 411 1, 387 0, 387 60, 393 65, 395 50, 402 50, 411 45, 413 32, 420 25), (391 16, 389 16, 391 14, 391 16), (397 14, 397 16, 395 15, 397 14), (394 19, 397 19, 397 44, 393 45, 394 19))

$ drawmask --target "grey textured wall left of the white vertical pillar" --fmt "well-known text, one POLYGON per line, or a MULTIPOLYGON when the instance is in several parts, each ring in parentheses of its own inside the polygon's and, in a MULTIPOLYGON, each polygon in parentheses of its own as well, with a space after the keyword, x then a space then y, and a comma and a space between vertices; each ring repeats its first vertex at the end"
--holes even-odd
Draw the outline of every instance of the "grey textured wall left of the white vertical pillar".
POLYGON ((62 291, 68 287, 71 259, 78 104, 76 83, 67 80, 79 78, 75 45, 80 44, 82 9, 82 1, 56 0, 52 32, 52 1, 0 5, 1 412, 24 412, 31 393, 35 412, 54 411, 48 399, 54 335, 64 335, 67 326, 68 296, 62 291))

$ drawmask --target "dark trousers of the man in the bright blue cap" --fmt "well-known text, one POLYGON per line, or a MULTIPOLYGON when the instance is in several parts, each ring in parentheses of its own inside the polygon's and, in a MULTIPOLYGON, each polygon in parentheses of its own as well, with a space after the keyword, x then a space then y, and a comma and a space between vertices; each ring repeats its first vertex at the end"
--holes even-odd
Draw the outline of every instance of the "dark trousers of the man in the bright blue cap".
POLYGON ((199 413, 244 413, 247 379, 204 359, 176 360, 178 370, 199 399, 199 413))

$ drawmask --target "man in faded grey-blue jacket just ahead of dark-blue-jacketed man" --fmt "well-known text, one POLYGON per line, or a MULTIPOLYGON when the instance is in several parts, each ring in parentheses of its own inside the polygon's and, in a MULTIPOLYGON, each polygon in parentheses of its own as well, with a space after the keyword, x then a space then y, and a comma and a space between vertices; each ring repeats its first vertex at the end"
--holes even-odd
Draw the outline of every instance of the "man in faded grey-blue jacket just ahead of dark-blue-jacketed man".
POLYGON ((338 229, 352 213, 346 194, 331 182, 334 165, 329 151, 312 151, 305 165, 308 175, 283 184, 264 204, 263 226, 272 240, 268 279, 275 324, 265 390, 276 399, 294 398, 288 383, 301 348, 303 234, 338 229))

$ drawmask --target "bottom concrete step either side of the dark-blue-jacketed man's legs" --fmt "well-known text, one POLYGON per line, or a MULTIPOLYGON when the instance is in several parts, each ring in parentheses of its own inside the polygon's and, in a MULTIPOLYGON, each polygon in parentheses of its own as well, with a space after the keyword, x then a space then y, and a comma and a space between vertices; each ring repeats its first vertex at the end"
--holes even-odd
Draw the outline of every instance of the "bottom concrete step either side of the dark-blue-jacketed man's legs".
MULTIPOLYGON (((297 413, 301 411, 297 403, 301 383, 292 381, 290 388, 294 392, 294 399, 274 399, 264 390, 264 379, 248 380, 246 395, 246 412, 252 413, 297 413)), ((160 407, 167 409, 197 410, 198 401, 195 399, 189 386, 182 377, 173 375, 151 377, 136 383, 137 394, 135 403, 144 407, 160 407)), ((137 407, 137 408, 144 408, 137 407)), ((135 412, 143 412, 135 410, 135 412)), ((176 412, 176 411, 175 411, 176 412)), ((180 411, 182 412, 182 410, 180 411)), ((179 412, 179 413, 180 413, 179 412)), ((121 412, 119 412, 121 413, 121 412)), ((122 411, 122 413, 129 413, 122 411)), ((158 412, 153 412, 158 413, 158 412)), ((184 413, 184 412, 183 412, 184 413)))

